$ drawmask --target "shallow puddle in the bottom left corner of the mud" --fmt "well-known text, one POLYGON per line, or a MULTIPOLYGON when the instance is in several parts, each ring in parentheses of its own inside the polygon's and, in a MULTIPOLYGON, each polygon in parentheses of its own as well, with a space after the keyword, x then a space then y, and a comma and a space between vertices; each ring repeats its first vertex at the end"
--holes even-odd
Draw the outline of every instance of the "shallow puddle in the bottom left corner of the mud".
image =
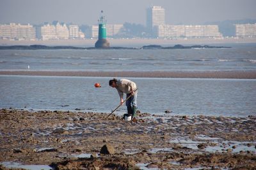
POLYGON ((22 165, 20 163, 17 162, 1 162, 1 164, 3 164, 4 167, 8 167, 8 168, 22 168, 22 169, 33 169, 33 170, 41 170, 41 169, 52 169, 52 167, 50 166, 44 166, 44 165, 22 165))

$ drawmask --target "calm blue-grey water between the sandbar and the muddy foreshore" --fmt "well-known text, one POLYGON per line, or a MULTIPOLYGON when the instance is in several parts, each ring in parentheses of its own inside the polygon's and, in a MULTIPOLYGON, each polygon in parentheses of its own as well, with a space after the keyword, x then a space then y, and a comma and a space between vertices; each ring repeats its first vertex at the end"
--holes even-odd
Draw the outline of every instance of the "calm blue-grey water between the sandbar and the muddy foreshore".
MULTIPOLYGON (((127 77, 138 85, 141 112, 178 115, 256 115, 255 79, 127 77)), ((111 77, 0 75, 0 108, 111 112, 120 102, 111 77), (95 88, 95 82, 101 88, 95 88)), ((116 111, 126 112, 125 106, 116 111)))

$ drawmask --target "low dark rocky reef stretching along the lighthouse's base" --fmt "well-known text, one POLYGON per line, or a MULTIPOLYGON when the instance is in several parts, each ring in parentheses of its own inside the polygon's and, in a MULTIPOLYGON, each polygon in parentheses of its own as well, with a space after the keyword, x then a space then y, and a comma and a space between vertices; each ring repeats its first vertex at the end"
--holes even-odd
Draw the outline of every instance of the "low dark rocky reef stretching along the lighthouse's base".
MULTIPOLYGON (((171 47, 163 47, 161 45, 144 45, 140 48, 134 47, 107 47, 103 49, 212 49, 212 48, 231 48, 225 46, 211 46, 211 45, 174 45, 171 47)), ((91 50, 91 49, 102 49, 95 47, 73 47, 73 46, 47 46, 47 45, 10 45, 0 46, 0 50, 60 50, 60 49, 72 49, 72 50, 91 50)))

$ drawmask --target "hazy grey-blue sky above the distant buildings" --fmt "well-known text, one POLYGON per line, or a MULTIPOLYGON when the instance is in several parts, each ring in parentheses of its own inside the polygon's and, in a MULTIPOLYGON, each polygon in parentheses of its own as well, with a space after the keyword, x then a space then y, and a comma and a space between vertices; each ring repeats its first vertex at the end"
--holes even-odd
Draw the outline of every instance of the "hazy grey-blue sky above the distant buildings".
POLYGON ((166 10, 166 24, 256 19, 256 0, 0 0, 0 24, 59 20, 92 25, 103 10, 108 24, 145 25, 150 6, 166 10))

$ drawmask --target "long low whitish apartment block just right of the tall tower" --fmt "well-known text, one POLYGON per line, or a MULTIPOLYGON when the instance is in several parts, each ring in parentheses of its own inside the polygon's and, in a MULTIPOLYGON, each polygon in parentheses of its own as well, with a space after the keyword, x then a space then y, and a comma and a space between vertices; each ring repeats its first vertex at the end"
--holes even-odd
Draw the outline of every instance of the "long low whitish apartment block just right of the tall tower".
POLYGON ((221 33, 216 25, 160 25, 156 26, 155 33, 158 38, 200 38, 220 37, 221 33))

